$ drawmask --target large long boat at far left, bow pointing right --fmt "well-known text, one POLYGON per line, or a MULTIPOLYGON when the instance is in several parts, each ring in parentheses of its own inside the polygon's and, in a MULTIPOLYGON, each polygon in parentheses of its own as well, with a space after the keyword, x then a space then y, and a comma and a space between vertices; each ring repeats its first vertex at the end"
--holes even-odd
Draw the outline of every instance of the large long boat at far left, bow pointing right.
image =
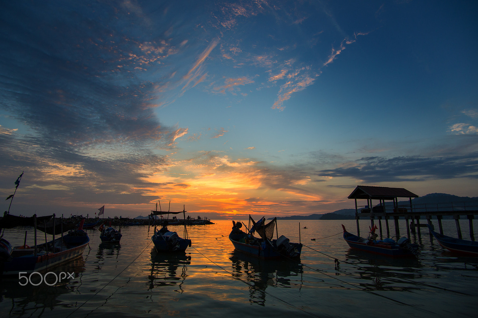
MULTIPOLYGON (((2 275, 18 276, 19 272, 38 272, 81 256, 89 243, 89 237, 83 231, 84 222, 83 220, 80 223, 77 230, 70 230, 68 234, 50 242, 35 245, 33 248, 26 244, 12 248, 10 257, 0 258, 2 275)), ((1 243, 4 244, 5 241, 1 243)))

